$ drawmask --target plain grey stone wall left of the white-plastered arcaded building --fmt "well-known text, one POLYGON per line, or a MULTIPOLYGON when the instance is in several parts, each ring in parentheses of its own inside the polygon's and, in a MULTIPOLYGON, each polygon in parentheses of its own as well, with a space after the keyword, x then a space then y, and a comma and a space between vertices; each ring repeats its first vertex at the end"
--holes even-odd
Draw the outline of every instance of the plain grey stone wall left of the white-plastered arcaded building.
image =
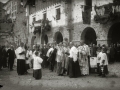
POLYGON ((14 24, 14 39, 16 40, 16 43, 18 43, 18 40, 26 43, 26 40, 28 39, 27 19, 25 14, 25 11, 17 14, 14 24))

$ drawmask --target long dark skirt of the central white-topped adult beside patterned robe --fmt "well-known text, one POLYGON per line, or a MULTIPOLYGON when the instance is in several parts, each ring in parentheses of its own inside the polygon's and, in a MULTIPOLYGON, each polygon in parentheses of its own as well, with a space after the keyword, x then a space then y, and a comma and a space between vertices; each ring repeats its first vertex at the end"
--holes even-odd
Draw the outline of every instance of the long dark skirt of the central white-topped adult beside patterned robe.
POLYGON ((70 78, 77 78, 80 76, 80 66, 78 60, 73 61, 73 58, 69 58, 69 69, 68 74, 70 78))

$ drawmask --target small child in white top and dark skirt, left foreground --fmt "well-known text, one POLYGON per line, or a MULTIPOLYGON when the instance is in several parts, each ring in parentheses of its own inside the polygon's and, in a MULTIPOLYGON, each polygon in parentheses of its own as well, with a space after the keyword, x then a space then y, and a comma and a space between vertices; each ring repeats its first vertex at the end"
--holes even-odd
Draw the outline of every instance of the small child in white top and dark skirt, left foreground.
POLYGON ((33 57, 33 77, 38 80, 42 78, 42 71, 41 71, 41 64, 43 62, 43 59, 40 58, 39 52, 35 52, 35 55, 33 57))

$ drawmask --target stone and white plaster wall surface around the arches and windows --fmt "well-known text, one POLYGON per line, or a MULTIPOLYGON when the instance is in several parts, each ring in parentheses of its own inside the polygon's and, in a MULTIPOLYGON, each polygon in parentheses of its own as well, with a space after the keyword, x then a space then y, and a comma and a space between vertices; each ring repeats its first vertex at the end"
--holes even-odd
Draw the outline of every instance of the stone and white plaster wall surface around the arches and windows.
MULTIPOLYGON (((43 12, 46 11, 48 20, 51 21, 52 30, 50 32, 46 32, 49 43, 52 43, 54 40, 55 33, 60 31, 63 35, 63 38, 70 39, 72 37, 72 41, 75 41, 79 44, 81 40, 81 35, 84 32, 84 29, 87 27, 91 27, 95 30, 97 36, 97 44, 108 44, 108 32, 113 23, 109 22, 107 24, 100 24, 94 22, 94 15, 96 15, 94 6, 103 5, 112 3, 112 0, 92 0, 92 12, 91 12, 91 24, 83 24, 82 20, 82 8, 81 5, 84 5, 84 0, 72 0, 72 3, 57 3, 46 7, 45 9, 38 10, 36 13, 30 14, 29 16, 29 24, 31 25, 33 22, 33 18, 36 17, 36 20, 43 19, 43 12), (61 19, 55 20, 56 15, 56 7, 59 6, 61 8, 61 19)), ((33 32, 33 30, 29 27, 29 32, 33 32)), ((37 39, 40 41, 40 37, 37 39)), ((71 41, 71 40, 70 40, 71 41)), ((39 42, 40 43, 40 42, 39 42)))

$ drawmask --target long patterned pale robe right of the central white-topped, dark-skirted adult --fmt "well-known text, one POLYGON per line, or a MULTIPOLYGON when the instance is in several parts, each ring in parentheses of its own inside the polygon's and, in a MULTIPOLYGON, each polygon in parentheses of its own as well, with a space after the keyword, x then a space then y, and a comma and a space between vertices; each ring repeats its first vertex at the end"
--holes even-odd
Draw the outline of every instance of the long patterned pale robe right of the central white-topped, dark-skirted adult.
POLYGON ((88 51, 86 46, 79 46, 79 65, 81 75, 89 75, 88 51))

